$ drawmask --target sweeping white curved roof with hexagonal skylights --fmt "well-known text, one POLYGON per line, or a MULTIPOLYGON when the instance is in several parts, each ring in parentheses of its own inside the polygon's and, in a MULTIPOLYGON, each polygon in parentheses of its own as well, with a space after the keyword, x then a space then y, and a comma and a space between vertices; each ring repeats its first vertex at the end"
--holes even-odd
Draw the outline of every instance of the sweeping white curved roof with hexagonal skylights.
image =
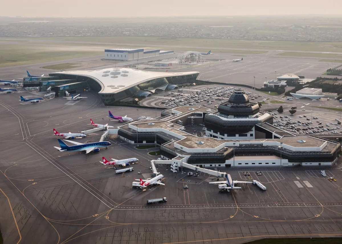
POLYGON ((96 80, 101 85, 102 89, 99 93, 117 93, 129 87, 139 85, 145 81, 156 78, 185 76, 190 74, 199 74, 199 72, 190 71, 173 73, 145 71, 131 68, 107 68, 98 70, 60 71, 53 74, 69 74, 89 77, 96 80))

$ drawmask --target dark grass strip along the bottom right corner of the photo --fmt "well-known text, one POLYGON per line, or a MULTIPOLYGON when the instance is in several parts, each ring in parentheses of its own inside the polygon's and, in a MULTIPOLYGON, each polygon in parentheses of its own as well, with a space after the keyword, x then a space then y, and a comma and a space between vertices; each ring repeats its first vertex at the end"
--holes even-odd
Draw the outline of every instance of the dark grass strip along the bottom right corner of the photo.
POLYGON ((246 244, 339 244, 342 238, 274 238, 260 239, 246 244))

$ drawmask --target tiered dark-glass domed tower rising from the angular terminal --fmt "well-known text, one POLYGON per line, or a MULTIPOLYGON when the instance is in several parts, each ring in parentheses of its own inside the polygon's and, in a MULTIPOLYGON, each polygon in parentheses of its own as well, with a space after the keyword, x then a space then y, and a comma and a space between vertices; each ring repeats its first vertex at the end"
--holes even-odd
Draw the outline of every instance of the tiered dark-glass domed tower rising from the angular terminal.
POLYGON ((218 110, 206 114, 206 135, 220 139, 254 139, 255 125, 273 123, 273 116, 251 104, 244 91, 235 91, 218 110))

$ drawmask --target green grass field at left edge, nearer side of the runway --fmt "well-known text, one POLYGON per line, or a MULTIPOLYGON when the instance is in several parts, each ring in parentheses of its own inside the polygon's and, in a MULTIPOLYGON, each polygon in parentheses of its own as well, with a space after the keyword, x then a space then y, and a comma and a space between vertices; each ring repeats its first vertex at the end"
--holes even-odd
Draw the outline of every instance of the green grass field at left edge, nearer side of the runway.
POLYGON ((44 46, 1 44, 0 68, 25 64, 45 63, 63 59, 102 55, 103 50, 79 50, 72 46, 44 46), (76 49, 77 50, 77 49, 76 49))

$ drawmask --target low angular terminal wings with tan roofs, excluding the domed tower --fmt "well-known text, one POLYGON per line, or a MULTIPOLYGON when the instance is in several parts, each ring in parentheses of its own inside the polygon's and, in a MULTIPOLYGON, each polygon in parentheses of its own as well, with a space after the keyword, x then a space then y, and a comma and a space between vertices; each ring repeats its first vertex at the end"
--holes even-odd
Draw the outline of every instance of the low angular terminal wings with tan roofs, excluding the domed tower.
MULTIPOLYGON (((174 107, 163 110, 162 117, 155 120, 136 120, 109 131, 128 143, 159 144, 161 157, 175 165, 185 162, 198 167, 331 166, 341 152, 338 142, 295 136, 267 122, 254 126, 258 135, 263 135, 257 139, 219 139, 185 132, 186 127, 203 123, 208 126, 205 118, 215 112, 206 106, 174 107)), ((222 130, 234 128, 222 125, 222 130)))

